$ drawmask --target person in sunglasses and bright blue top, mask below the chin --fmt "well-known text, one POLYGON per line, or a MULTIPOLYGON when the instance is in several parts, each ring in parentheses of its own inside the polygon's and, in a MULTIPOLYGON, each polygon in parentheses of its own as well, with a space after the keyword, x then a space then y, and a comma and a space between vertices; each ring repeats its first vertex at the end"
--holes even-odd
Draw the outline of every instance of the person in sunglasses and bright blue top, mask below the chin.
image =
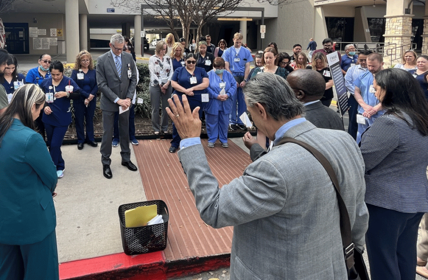
MULTIPOLYGON (((44 79, 48 79, 51 77, 51 73, 49 72, 49 66, 51 65, 51 56, 48 54, 41 55, 39 58, 39 65, 35 68, 30 69, 28 71, 27 76, 25 77, 25 82, 27 84, 38 84, 39 86, 42 84, 44 79)), ((45 127, 42 121, 43 111, 40 112, 38 118, 36 118, 36 126, 39 133, 42 135, 43 139, 45 138, 45 127)))

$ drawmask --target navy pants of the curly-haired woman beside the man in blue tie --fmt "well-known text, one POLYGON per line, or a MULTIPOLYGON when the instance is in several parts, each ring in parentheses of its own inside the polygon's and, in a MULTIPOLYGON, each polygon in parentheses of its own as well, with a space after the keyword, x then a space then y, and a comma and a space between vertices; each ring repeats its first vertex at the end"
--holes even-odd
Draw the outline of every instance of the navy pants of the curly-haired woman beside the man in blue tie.
POLYGON ((84 143, 87 141, 94 141, 95 139, 93 137, 93 114, 95 112, 96 107, 96 98, 92 99, 88 107, 85 106, 85 102, 83 100, 74 100, 73 107, 76 123, 77 142, 84 143), (86 138, 83 126, 84 117, 86 120, 86 138))

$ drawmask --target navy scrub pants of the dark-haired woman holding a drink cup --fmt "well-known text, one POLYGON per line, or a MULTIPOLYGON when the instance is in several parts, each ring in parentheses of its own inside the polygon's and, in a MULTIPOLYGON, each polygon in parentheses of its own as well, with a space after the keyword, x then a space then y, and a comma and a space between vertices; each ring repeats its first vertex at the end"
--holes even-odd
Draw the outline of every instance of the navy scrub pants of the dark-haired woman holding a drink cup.
POLYGON ((64 170, 65 163, 62 159, 61 145, 64 140, 65 133, 67 132, 67 126, 53 126, 45 123, 46 137, 48 139, 47 144, 49 146, 49 153, 51 154, 52 161, 57 167, 57 170, 64 170))

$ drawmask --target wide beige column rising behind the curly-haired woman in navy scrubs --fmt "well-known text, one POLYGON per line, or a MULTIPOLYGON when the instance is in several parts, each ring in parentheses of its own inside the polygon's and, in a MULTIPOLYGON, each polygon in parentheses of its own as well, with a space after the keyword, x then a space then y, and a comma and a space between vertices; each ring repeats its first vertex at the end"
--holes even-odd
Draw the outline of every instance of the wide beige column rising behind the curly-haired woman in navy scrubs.
POLYGON ((67 62, 76 60, 79 50, 79 1, 65 0, 65 51, 67 62))

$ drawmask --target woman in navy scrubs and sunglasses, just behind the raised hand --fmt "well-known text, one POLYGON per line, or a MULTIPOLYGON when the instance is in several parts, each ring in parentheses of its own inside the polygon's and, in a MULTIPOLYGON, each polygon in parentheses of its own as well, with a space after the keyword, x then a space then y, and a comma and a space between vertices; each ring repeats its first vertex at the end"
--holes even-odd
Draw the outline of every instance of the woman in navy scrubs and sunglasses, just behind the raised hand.
MULTIPOLYGON (((213 59, 214 61, 214 59, 213 59)), ((196 107, 200 107, 199 117, 202 116, 202 95, 209 92, 207 87, 210 85, 207 72, 200 67, 196 67, 196 55, 189 53, 186 56, 186 66, 178 68, 171 79, 171 85, 174 88, 173 94, 177 94, 180 101, 182 95, 187 95, 190 109, 193 111, 196 107)), ((170 153, 175 153, 180 146, 181 138, 175 128, 172 125, 172 137, 171 147, 169 148, 170 153)))

